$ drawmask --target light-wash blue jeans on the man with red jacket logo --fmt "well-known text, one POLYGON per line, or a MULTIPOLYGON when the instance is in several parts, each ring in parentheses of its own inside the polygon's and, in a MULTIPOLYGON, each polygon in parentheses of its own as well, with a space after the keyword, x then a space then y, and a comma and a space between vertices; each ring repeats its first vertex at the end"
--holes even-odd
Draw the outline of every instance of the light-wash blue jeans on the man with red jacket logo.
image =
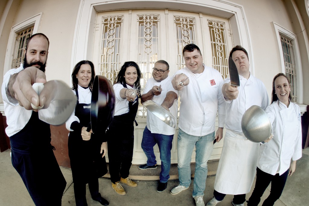
POLYGON ((191 156, 196 147, 193 197, 204 195, 207 178, 207 161, 213 150, 214 132, 205 136, 193 136, 179 128, 178 131, 178 174, 179 184, 189 187, 191 183, 191 156))

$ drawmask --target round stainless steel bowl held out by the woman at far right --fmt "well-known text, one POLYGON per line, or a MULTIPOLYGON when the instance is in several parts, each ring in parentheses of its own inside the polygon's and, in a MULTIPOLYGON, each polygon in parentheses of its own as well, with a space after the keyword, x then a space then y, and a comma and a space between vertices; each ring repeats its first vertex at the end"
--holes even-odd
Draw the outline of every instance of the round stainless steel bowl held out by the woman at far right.
POLYGON ((241 129, 247 139, 252 142, 265 141, 271 134, 271 124, 266 112, 256 105, 243 113, 241 129))

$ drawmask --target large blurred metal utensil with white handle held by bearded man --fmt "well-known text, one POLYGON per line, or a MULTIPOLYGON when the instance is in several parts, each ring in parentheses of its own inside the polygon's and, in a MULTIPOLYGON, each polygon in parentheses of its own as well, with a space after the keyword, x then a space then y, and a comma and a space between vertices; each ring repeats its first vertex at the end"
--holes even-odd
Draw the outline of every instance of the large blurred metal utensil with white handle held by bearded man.
POLYGON ((71 116, 77 97, 66 83, 59 80, 52 80, 46 83, 34 83, 32 88, 38 95, 45 96, 46 102, 43 107, 34 107, 39 111, 39 119, 51 124, 61 125, 71 116))

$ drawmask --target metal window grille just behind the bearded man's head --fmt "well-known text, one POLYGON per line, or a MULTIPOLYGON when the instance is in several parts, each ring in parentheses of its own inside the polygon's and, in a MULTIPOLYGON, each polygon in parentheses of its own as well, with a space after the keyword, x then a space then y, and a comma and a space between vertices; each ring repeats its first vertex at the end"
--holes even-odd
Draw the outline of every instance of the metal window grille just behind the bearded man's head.
POLYGON ((19 33, 16 33, 16 41, 14 46, 14 59, 12 61, 12 68, 18 68, 23 62, 24 50, 26 49, 27 39, 32 35, 33 26, 29 27, 19 33))

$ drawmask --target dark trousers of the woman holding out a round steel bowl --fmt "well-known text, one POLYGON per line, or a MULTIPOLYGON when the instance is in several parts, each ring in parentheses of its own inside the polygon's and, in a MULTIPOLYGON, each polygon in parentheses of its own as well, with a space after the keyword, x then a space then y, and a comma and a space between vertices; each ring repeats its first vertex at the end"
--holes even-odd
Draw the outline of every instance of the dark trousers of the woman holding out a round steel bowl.
POLYGON ((261 196, 271 182, 270 195, 263 202, 262 206, 271 206, 276 200, 279 199, 283 191, 284 185, 286 184, 286 179, 288 177, 289 170, 285 173, 279 174, 268 174, 263 172, 258 167, 256 168, 256 183, 251 197, 248 200, 248 206, 257 206, 260 203, 261 196))

